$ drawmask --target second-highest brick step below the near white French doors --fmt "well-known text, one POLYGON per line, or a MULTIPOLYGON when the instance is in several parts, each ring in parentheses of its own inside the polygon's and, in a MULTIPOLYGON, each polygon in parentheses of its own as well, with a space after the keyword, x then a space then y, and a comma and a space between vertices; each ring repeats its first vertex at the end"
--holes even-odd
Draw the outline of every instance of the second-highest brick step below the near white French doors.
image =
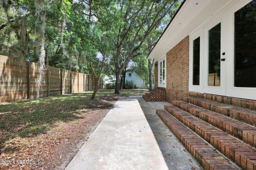
POLYGON ((238 121, 256 126, 255 111, 195 97, 187 97, 185 101, 196 106, 208 109, 209 111, 216 112, 234 118, 238 121))

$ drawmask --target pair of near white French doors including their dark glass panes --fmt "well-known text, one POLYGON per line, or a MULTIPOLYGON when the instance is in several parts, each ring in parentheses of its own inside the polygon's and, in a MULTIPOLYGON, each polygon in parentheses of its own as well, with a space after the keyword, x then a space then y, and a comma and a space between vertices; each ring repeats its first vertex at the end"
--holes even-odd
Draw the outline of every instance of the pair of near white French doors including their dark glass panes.
POLYGON ((204 87, 256 100, 256 0, 237 1, 204 27, 204 87))

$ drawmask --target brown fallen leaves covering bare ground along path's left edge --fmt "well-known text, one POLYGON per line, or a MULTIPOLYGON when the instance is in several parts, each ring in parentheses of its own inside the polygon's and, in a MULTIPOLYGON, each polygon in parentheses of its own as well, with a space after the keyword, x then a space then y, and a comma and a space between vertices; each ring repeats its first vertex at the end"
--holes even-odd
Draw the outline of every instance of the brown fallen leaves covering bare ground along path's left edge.
MULTIPOLYGON (((66 165, 74 157, 79 148, 81 148, 86 139, 89 138, 89 134, 106 116, 117 99, 118 96, 104 96, 98 98, 97 102, 92 104, 63 105, 62 108, 58 107, 53 111, 51 110, 52 114, 58 114, 64 111, 67 114, 69 112, 79 113, 76 113, 76 118, 70 118, 70 120, 68 116, 67 120, 65 120, 65 117, 63 120, 54 120, 50 126, 44 126, 44 122, 38 121, 38 123, 42 123, 40 125, 43 130, 36 132, 36 135, 36 128, 25 132, 24 136, 14 134, 14 132, 19 131, 19 129, 28 127, 31 122, 15 123, 13 129, 12 126, 7 125, 2 133, 2 137, 4 137, 5 140, 0 143, 0 161, 9 160, 10 162, 12 161, 12 163, 0 163, 0 169, 65 169, 66 165), (29 135, 30 133, 31 135, 29 135), (23 162, 19 164, 17 160, 33 160, 35 162, 23 162)), ((49 111, 47 110, 49 106, 44 106, 44 112, 46 114, 49 111)), ((27 111, 30 109, 25 108, 27 111)), ((25 111, 22 110, 21 112, 25 111)), ((51 115, 49 115, 49 117, 55 118, 51 115)))

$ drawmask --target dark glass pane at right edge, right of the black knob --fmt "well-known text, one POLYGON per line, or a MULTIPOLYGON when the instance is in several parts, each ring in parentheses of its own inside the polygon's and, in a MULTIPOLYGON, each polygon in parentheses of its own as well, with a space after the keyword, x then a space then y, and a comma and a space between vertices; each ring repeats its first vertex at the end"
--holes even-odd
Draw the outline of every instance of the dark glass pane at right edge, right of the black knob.
POLYGON ((256 87, 256 1, 235 12, 235 87, 256 87))

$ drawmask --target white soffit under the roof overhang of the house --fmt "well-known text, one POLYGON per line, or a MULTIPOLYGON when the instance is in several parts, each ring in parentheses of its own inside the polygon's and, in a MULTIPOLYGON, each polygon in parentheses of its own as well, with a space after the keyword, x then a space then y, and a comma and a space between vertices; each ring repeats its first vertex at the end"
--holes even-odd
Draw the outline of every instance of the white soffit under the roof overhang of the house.
POLYGON ((182 39, 198 29, 200 25, 207 23, 223 10, 230 2, 238 0, 187 0, 169 27, 163 33, 161 39, 148 55, 148 58, 155 58, 157 61, 177 45, 182 39))

